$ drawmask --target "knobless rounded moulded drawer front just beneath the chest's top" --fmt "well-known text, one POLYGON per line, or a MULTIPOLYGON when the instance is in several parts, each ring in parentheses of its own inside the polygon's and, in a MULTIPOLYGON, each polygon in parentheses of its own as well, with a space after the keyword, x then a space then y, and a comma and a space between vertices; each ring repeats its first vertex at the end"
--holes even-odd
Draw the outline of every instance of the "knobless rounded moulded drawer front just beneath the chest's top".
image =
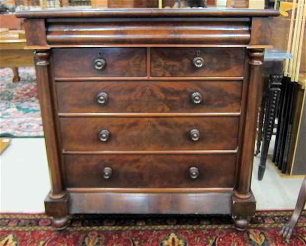
POLYGON ((51 20, 49 44, 248 44, 250 20, 229 19, 75 19, 51 20), (157 26, 158 25, 158 29, 157 26), (184 28, 182 28, 182 26, 184 28))

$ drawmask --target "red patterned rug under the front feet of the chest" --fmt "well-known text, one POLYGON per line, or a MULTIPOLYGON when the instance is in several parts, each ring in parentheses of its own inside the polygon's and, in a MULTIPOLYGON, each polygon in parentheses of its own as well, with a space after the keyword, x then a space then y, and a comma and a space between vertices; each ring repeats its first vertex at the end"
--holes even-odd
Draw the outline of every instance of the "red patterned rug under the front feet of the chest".
POLYGON ((306 211, 290 241, 279 231, 292 211, 259 211, 238 232, 230 216, 74 215, 55 231, 44 214, 0 214, 1 246, 283 246, 306 245, 306 211))

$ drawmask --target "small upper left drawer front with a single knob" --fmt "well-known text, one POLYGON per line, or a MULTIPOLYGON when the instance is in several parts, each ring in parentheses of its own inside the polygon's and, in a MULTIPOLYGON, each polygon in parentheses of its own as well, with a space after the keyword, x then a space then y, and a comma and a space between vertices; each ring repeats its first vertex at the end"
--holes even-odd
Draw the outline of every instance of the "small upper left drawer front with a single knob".
POLYGON ((146 76, 145 48, 53 49, 52 57, 55 77, 146 76))

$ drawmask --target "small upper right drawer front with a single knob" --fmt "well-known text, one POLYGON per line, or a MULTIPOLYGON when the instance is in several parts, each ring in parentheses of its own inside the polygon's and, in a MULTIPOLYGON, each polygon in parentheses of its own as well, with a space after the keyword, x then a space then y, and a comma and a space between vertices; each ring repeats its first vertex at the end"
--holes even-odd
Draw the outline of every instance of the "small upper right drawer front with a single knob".
POLYGON ((244 48, 152 48, 153 77, 243 76, 244 48))

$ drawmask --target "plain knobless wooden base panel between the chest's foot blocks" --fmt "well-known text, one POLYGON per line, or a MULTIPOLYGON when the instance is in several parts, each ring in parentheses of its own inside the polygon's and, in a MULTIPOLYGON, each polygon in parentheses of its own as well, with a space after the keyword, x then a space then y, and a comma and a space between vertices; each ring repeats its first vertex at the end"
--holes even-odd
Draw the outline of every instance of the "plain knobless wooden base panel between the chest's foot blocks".
POLYGON ((229 214, 232 192, 70 193, 70 213, 229 214))

